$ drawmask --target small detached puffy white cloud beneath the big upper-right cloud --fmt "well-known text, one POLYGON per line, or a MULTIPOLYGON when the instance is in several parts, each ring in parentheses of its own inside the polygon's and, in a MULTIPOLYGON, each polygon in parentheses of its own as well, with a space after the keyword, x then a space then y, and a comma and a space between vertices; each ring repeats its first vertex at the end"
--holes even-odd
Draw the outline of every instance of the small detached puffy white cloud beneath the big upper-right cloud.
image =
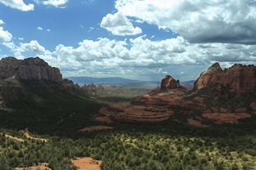
POLYGON ((107 14, 107 16, 103 17, 100 26, 114 35, 126 36, 142 33, 142 30, 139 27, 134 27, 130 20, 121 12, 117 12, 113 15, 107 14))

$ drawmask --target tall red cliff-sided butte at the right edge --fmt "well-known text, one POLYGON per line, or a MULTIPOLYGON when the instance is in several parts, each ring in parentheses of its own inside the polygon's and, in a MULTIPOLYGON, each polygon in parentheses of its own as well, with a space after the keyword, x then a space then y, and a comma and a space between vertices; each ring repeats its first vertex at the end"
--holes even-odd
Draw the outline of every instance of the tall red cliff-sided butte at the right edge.
POLYGON ((243 94, 256 91, 256 66, 254 65, 233 65, 229 69, 220 67, 218 63, 200 74, 194 83, 194 88, 202 89, 217 84, 228 87, 230 92, 243 94))

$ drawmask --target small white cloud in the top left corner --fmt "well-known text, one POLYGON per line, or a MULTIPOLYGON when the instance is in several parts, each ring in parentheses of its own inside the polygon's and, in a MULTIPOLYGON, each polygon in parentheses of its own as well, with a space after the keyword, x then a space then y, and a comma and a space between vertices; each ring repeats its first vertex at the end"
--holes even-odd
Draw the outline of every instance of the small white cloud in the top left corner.
POLYGON ((33 11, 34 10, 33 4, 26 5, 25 2, 23 2, 23 0, 0 0, 0 3, 4 4, 7 7, 12 7, 17 10, 21 10, 21 11, 33 11))

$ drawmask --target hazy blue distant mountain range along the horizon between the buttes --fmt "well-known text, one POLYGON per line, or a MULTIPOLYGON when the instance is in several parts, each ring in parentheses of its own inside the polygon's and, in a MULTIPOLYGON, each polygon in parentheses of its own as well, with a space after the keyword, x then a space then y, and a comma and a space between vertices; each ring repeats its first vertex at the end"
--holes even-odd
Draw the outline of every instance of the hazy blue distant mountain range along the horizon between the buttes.
POLYGON ((159 84, 160 82, 153 82, 153 81, 141 81, 141 80, 132 80, 127 78, 92 78, 92 77, 67 77, 71 79, 75 83, 79 84, 159 84))

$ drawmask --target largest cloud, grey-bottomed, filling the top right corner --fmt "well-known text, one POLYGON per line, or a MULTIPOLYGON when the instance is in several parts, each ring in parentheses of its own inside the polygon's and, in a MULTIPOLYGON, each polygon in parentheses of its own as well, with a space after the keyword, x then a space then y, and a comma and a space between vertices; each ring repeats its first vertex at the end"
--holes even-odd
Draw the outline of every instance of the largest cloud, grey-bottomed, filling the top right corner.
POLYGON ((117 0, 116 8, 190 42, 256 43, 254 0, 117 0))

